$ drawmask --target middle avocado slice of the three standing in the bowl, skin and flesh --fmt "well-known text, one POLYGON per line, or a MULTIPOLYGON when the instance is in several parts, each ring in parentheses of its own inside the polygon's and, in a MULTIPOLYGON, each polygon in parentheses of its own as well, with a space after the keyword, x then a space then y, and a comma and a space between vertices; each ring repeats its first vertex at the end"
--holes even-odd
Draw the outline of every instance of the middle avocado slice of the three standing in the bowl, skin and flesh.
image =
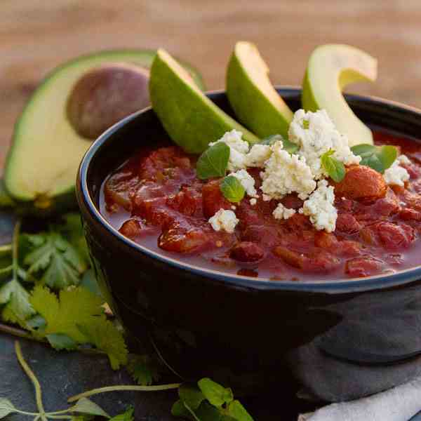
POLYGON ((239 121, 260 138, 288 138, 293 112, 269 80, 269 68, 258 48, 246 41, 234 47, 227 69, 227 96, 239 121))

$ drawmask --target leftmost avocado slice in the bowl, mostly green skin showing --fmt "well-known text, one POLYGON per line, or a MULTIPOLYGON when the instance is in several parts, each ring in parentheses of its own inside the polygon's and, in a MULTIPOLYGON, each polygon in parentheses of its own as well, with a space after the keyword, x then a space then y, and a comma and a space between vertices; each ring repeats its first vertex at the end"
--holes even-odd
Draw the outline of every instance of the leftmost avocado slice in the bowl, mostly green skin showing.
POLYGON ((203 152, 209 142, 215 142, 233 128, 241 131, 250 144, 259 142, 206 97, 185 69, 162 49, 152 63, 149 95, 168 135, 186 152, 203 152))

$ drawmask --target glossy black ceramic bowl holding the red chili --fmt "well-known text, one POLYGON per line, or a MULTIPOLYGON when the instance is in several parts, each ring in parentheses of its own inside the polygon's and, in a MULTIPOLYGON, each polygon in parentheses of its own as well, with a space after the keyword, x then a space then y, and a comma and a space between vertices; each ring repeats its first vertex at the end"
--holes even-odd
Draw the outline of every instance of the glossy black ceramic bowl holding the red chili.
MULTIPOLYGON (((300 90, 278 91, 292 109, 300 107, 300 90)), ((208 96, 232 114, 225 93, 208 96)), ((370 125, 421 133, 416 109, 346 98, 370 125)), ((417 374, 421 267, 326 283, 268 281, 166 258, 109 225, 98 210, 102 182, 136 149, 167 138, 152 109, 142 110, 96 140, 79 169, 77 196, 93 267, 131 335, 149 338, 183 377, 229 377, 256 390, 293 375, 328 401, 377 392, 417 374)))

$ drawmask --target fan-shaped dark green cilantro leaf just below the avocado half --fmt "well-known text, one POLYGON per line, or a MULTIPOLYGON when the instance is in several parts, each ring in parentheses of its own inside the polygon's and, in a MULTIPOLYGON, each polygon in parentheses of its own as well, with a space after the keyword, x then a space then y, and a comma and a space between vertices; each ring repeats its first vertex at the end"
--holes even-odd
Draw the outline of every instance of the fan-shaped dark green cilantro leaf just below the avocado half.
POLYGON ((28 274, 41 275, 41 283, 51 288, 77 285, 87 269, 86 261, 79 251, 58 232, 27 236, 32 250, 25 256, 23 264, 28 274))

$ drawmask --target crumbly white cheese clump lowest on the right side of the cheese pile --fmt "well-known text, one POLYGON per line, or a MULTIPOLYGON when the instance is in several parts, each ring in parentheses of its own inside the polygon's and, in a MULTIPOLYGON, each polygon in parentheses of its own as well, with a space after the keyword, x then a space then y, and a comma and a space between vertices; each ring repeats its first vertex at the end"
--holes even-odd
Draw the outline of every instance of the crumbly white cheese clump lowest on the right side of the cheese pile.
POLYGON ((326 232, 335 231, 338 210, 333 206, 335 193, 332 186, 328 186, 326 180, 317 184, 317 189, 304 202, 302 212, 309 216, 310 221, 316 229, 325 229, 326 232))

